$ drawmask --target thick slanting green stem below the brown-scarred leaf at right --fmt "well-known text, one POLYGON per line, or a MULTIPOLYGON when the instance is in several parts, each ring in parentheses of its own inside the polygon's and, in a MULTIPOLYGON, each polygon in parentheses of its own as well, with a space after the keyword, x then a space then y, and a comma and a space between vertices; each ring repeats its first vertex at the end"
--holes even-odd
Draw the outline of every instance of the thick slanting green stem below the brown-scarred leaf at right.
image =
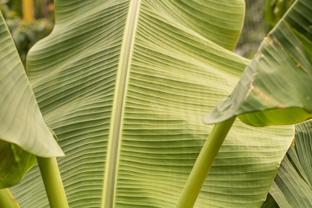
POLYGON ((193 169, 188 176, 176 208, 193 208, 201 187, 209 173, 214 159, 229 132, 236 116, 216 124, 202 147, 193 169))

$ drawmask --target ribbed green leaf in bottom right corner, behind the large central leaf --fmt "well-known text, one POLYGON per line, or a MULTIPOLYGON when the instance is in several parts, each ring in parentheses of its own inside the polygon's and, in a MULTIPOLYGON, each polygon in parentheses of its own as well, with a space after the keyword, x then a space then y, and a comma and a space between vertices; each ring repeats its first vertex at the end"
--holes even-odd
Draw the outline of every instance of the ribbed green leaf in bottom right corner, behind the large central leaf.
POLYGON ((310 208, 312 205, 312 120, 295 127, 296 145, 288 150, 270 189, 280 208, 310 208))

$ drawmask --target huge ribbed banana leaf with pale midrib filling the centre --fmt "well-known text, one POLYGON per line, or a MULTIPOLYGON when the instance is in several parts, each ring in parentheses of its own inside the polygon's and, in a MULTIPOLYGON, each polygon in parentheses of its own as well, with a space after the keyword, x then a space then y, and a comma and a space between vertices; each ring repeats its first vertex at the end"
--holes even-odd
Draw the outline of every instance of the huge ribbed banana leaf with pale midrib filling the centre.
MULTIPOLYGON (((172 208, 212 126, 202 117, 249 62, 232 52, 242 0, 56 0, 52 33, 28 73, 71 208, 172 208), (208 106, 208 108, 207 108, 208 106)), ((237 121, 197 208, 261 207, 294 127, 237 121)), ((47 208, 37 167, 10 189, 47 208)))

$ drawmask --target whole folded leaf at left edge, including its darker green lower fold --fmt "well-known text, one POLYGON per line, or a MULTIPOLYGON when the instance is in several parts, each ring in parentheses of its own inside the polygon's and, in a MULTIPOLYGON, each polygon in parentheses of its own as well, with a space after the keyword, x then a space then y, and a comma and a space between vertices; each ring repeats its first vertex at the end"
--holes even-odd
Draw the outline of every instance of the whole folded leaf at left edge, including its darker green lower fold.
POLYGON ((1 13, 0 45, 0 189, 3 189, 21 180, 36 162, 34 155, 64 154, 43 121, 1 13))

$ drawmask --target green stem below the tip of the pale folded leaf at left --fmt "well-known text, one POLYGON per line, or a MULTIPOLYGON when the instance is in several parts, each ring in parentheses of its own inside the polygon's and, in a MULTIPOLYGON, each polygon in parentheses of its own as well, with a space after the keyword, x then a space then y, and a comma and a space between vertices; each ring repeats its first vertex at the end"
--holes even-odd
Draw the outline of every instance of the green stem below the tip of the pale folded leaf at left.
POLYGON ((56 158, 37 157, 50 208, 69 208, 56 158))

